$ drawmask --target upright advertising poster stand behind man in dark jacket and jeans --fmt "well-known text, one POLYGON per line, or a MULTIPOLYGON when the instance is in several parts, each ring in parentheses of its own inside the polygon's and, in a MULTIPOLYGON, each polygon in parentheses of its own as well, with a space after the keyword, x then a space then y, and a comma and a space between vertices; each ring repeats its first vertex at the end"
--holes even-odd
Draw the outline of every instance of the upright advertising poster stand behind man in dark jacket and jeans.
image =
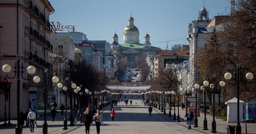
POLYGON ((197 104, 195 104, 195 97, 186 97, 186 112, 188 112, 188 109, 191 109, 191 111, 193 112, 194 116, 195 116, 195 105, 197 105, 196 107, 196 112, 197 112, 197 116, 200 116, 200 111, 199 111, 199 98, 196 98, 197 100, 197 104))

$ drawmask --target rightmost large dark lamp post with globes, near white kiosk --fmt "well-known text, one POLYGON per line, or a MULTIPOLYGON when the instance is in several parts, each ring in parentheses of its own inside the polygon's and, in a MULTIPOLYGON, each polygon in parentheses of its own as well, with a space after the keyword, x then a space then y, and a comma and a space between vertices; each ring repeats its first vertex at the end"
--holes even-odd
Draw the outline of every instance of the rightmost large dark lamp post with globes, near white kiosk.
MULTIPOLYGON (((231 83, 229 80, 232 79, 232 74, 229 72, 226 72, 224 75, 224 78, 228 81, 229 84, 237 84, 237 124, 236 124, 236 134, 241 134, 241 125, 240 125, 240 114, 239 114, 239 101, 240 101, 240 83, 243 81, 242 77, 241 77, 241 68, 239 66, 239 64, 236 65, 237 67, 237 71, 235 71, 235 76, 233 78, 233 83, 231 83)), ((247 79, 247 81, 252 80, 253 79, 253 74, 251 72, 246 73, 245 78, 247 79)), ((243 84, 243 83, 242 83, 243 84)))

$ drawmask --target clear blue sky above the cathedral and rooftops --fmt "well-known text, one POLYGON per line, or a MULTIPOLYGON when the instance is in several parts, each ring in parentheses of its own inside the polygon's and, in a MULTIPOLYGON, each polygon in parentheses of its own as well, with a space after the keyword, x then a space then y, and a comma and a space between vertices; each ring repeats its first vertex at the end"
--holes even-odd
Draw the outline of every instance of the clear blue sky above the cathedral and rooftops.
MULTIPOLYGON (((49 0, 55 12, 50 22, 75 25, 88 40, 112 43, 116 32, 123 43, 123 30, 128 19, 140 32, 140 43, 148 32, 152 46, 171 49, 174 44, 187 45, 188 23, 197 20, 203 0, 49 0)), ((204 0, 204 7, 212 19, 229 15, 230 0, 204 0)), ((65 31, 67 32, 67 31, 65 31)))

